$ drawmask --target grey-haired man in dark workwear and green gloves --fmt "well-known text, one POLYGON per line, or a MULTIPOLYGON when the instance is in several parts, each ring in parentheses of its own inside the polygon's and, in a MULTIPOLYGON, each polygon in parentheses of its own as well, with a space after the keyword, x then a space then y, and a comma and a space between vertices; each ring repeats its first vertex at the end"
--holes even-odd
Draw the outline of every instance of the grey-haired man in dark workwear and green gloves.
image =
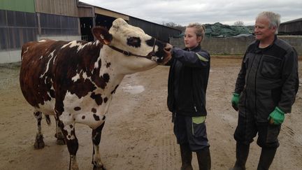
POLYGON ((256 18, 256 40, 249 45, 231 99, 238 111, 236 163, 245 169, 250 143, 258 133, 261 155, 257 169, 268 169, 279 146, 278 134, 299 87, 296 50, 277 38, 280 15, 262 12, 256 18))

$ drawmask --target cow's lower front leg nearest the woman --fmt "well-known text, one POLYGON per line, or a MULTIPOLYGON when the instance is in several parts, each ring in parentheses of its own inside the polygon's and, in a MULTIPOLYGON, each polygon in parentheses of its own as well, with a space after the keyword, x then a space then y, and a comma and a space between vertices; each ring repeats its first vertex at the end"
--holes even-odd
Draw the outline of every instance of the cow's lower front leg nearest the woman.
POLYGON ((92 164, 94 165, 94 170, 105 169, 103 167, 103 163, 101 162, 101 155, 99 153, 99 143, 101 142, 101 131, 103 129, 102 125, 97 127, 96 129, 92 129, 92 143, 93 143, 93 154, 92 154, 92 164))

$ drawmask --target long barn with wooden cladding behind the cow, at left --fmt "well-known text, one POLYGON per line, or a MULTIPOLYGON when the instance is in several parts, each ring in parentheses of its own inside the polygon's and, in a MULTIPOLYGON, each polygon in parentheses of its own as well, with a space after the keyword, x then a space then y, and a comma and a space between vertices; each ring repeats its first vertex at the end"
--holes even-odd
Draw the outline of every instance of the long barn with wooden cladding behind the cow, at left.
POLYGON ((78 0, 1 0, 0 63, 19 62, 22 44, 41 38, 94 41, 91 29, 108 29, 121 17, 161 41, 181 33, 178 29, 141 20, 78 0))

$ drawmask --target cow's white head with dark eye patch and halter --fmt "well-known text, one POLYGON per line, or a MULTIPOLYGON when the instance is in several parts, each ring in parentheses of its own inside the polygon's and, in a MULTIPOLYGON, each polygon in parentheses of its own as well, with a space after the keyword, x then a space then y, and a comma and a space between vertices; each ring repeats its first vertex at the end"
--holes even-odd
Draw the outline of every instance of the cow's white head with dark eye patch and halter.
POLYGON ((120 18, 113 22, 109 31, 94 27, 92 33, 112 50, 124 53, 123 57, 128 57, 130 62, 141 60, 156 66, 166 64, 171 59, 172 45, 152 38, 143 29, 127 24, 120 18))

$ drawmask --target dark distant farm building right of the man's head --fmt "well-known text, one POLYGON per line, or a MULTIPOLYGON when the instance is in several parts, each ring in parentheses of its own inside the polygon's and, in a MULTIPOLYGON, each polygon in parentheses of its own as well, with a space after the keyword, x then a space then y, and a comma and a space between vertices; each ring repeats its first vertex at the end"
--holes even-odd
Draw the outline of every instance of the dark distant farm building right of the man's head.
POLYGON ((278 32, 283 35, 302 35, 302 18, 282 22, 278 32))

